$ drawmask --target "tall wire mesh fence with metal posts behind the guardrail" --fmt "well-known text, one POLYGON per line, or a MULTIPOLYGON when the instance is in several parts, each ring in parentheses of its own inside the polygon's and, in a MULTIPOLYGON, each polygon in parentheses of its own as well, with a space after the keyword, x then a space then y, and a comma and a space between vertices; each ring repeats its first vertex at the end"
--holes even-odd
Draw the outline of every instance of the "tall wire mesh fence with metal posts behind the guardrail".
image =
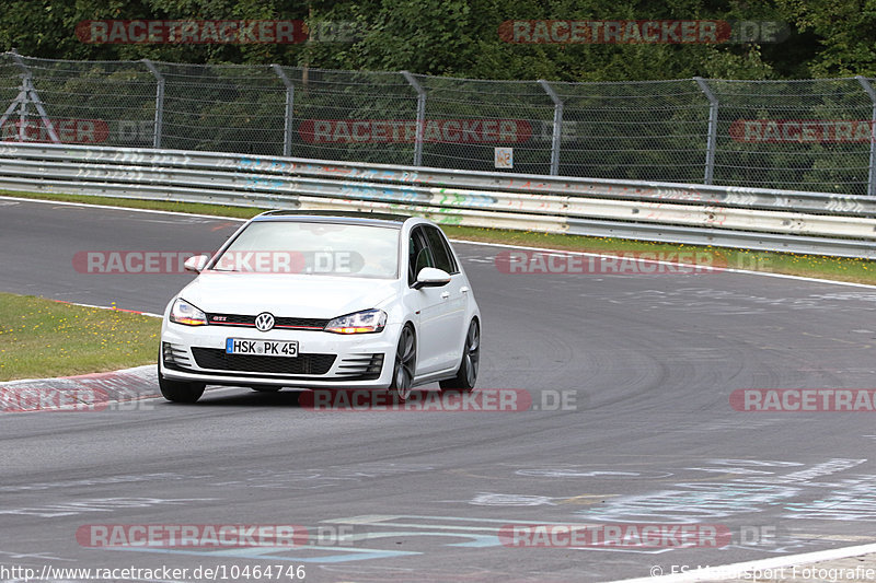
POLYGON ((4 141, 876 196, 876 80, 489 81, 0 54, 4 141), (510 168, 508 168, 510 170, 510 168))

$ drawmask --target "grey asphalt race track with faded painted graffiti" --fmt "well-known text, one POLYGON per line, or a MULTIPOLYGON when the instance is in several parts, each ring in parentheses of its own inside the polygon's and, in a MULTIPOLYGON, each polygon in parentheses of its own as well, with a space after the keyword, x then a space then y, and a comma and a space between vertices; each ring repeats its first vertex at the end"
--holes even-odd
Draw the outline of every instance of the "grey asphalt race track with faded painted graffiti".
MULTIPOLYGON (((239 224, 0 205, 0 291, 155 313, 189 276, 83 273, 74 254, 212 249, 239 224)), ((314 411, 298 392, 222 388, 195 406, 0 413, 0 565, 610 581, 876 541, 873 413, 741 412, 729 400, 746 388, 873 388, 876 290, 730 272, 506 275, 500 248, 456 246, 484 317, 479 386, 526 389, 539 410, 314 411), (496 536, 654 523, 718 525, 731 540, 516 548, 496 536), (310 538, 80 545, 94 524, 301 525, 310 538)))

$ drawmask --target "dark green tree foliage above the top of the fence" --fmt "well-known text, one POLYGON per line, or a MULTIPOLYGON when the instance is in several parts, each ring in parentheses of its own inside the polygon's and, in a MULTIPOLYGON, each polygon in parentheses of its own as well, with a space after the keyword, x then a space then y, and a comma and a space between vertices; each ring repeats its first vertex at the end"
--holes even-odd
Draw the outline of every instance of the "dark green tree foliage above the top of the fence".
POLYGON ((472 79, 667 80, 694 75, 791 79, 876 74, 876 0, 7 0, 0 50, 57 59, 270 63, 408 70, 472 79), (87 20, 344 22, 349 42, 286 45, 85 44, 87 20), (509 20, 783 21, 777 44, 512 44, 509 20))

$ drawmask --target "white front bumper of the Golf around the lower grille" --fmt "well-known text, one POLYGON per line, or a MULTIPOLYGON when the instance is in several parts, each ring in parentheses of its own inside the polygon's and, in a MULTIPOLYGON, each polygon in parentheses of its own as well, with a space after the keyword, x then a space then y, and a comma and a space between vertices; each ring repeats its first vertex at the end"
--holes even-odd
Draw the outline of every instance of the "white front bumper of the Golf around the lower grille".
POLYGON ((385 388, 392 380, 399 326, 377 334, 227 326, 183 326, 165 320, 159 370, 172 381, 208 385, 385 388), (298 341, 298 357, 231 355, 228 338, 298 341))

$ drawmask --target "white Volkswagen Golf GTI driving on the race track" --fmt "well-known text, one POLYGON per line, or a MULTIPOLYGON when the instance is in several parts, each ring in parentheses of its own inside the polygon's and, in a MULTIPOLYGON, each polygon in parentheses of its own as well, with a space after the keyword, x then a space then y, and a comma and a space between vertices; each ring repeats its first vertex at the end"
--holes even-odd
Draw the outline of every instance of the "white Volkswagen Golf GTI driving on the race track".
POLYGON ((471 390, 481 313, 438 226, 391 214, 270 211, 246 222, 168 304, 159 385, 255 390, 471 390))

